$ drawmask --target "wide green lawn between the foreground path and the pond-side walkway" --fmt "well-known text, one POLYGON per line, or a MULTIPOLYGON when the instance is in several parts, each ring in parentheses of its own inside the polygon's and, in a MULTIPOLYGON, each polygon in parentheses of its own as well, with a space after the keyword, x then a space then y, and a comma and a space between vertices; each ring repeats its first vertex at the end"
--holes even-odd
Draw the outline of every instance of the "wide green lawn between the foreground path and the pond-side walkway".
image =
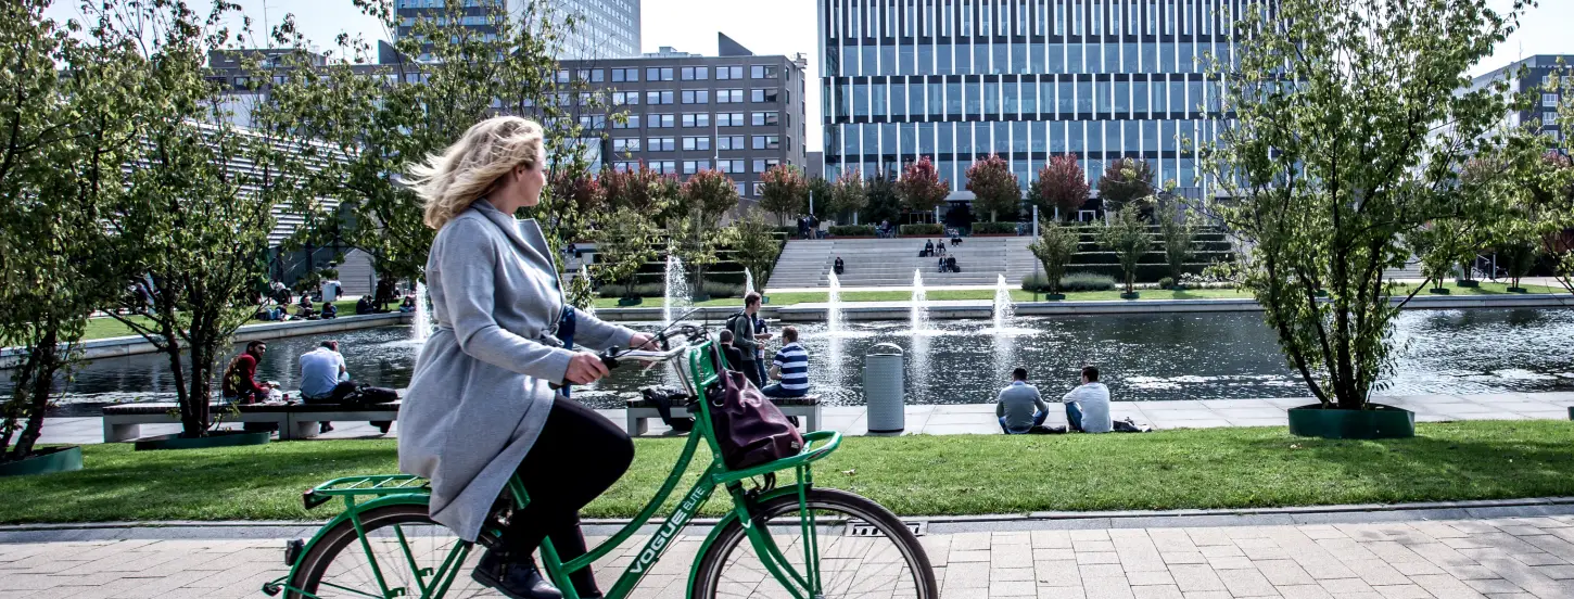
MULTIPOLYGON (((1574 423, 1418 424, 1420 437, 1355 442, 1284 428, 1108 435, 852 437, 815 469, 900 514, 1048 509, 1256 508, 1574 495, 1574 423)), ((633 516, 666 478, 682 439, 636 440, 637 458, 586 516, 633 516)), ((0 524, 326 519, 305 513, 315 483, 395 472, 392 440, 252 448, 83 448, 87 469, 0 478, 0 524)), ((705 459, 700 456, 699 459, 705 459)), ((682 489, 680 489, 682 491, 682 489)), ((680 492, 682 494, 682 492, 680 492)), ((708 514, 721 503, 711 502, 708 514)))

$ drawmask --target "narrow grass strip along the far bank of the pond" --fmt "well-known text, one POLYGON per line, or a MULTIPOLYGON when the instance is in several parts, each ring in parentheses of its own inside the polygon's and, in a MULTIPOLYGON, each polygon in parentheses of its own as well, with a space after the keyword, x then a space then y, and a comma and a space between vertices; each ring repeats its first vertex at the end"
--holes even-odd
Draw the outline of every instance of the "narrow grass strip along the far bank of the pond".
MULTIPOLYGON (((1508 283, 1481 283, 1480 288, 1461 288, 1454 283, 1448 283, 1447 288, 1454 296, 1506 296, 1508 283)), ((1410 286, 1401 285, 1395 292, 1409 294, 1410 286)), ((1560 294, 1565 289, 1527 285, 1525 289, 1532 294, 1560 294)), ((1187 289, 1187 291, 1166 291, 1166 289, 1138 289, 1141 300, 1166 300, 1166 299, 1250 299, 1251 294, 1240 289, 1187 289)), ((1421 296, 1426 296, 1421 291, 1421 296)), ((993 289, 932 289, 924 294, 932 300, 993 300, 993 289)), ((770 294, 770 305, 793 305, 793 303, 811 303, 811 302, 826 302, 829 294, 818 291, 803 291, 803 292, 773 292, 770 294)), ((913 299, 913 292, 908 289, 891 289, 891 291, 844 291, 842 302, 907 302, 913 299)), ((1011 299, 1014 302, 1034 302, 1034 294, 1031 291, 1022 291, 1020 288, 1011 289, 1011 299)), ((1091 300, 1119 300, 1121 291, 1073 291, 1066 294, 1067 302, 1091 302, 1091 300)), ((1044 300, 1039 294, 1037 300, 1044 300)), ((663 300, 660 297, 645 297, 641 307, 661 307, 663 300)), ((726 305, 743 305, 743 299, 713 299, 708 302, 699 302, 696 305, 705 307, 726 307, 726 305)), ((615 299, 597 299, 597 308, 617 308, 615 299)))

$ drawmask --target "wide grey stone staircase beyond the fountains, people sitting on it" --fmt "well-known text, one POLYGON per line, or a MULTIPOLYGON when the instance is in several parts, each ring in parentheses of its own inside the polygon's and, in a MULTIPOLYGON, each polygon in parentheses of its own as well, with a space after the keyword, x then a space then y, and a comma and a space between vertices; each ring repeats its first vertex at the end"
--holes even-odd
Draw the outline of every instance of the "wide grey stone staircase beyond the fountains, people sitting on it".
POLYGON ((965 237, 962 245, 948 242, 946 248, 957 258, 962 272, 937 272, 935 258, 918 256, 924 237, 789 241, 776 259, 770 288, 829 286, 826 275, 836 256, 847 264, 847 272, 839 277, 842 286, 908 288, 914 269, 924 274, 924 285, 995 285, 1001 274, 1007 283, 1017 285, 1036 264, 1028 252, 1031 242, 1031 237, 965 237))

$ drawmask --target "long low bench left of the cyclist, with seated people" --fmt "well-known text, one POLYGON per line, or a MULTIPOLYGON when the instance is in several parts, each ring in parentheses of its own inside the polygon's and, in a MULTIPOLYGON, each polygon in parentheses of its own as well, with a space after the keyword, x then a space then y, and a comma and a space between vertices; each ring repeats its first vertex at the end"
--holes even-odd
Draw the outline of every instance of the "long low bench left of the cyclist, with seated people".
MULTIPOLYGON (((230 423, 266 423, 279 428, 280 440, 312 439, 318 423, 334 420, 398 420, 400 402, 371 406, 342 404, 283 404, 283 406, 236 406, 239 415, 230 413, 230 404, 212 404, 209 412, 230 423)), ((104 406, 104 442, 115 443, 142 437, 142 424, 179 424, 179 404, 135 402, 104 406)))

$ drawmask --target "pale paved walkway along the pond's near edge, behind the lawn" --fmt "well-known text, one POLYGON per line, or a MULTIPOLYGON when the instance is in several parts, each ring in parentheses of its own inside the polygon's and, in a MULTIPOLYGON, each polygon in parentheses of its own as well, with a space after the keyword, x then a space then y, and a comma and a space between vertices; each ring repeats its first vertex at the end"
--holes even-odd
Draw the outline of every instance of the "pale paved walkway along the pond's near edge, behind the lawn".
MULTIPOLYGON (((1494 395, 1426 395, 1393 396, 1379 399, 1384 404, 1415 412, 1423 423, 1450 420, 1568 420, 1574 406, 1574 393, 1494 393, 1494 395)), ((1286 410, 1314 404, 1306 398, 1273 399, 1193 399, 1193 401, 1116 401, 1110 412, 1114 418, 1132 418, 1138 424, 1158 429, 1217 428, 1217 426, 1286 426, 1286 410)), ((598 410, 622 426, 623 410, 598 410)), ((995 404, 965 406, 908 406, 905 409, 907 434, 996 434, 995 404)), ((1066 424, 1066 412, 1050 406, 1047 424, 1066 424)), ((861 435, 869 431, 867 412, 863 406, 826 407, 823 428, 842 434, 861 435)), ((367 423, 335 423, 335 431, 320 439, 378 437, 367 423)), ((143 435, 179 432, 178 424, 150 424, 143 435)), ((660 420, 650 421, 652 435, 666 434, 660 420)), ((397 435, 395 426, 390 435, 397 435)), ((96 417, 46 418, 44 443, 101 443, 104 424, 96 417)))

